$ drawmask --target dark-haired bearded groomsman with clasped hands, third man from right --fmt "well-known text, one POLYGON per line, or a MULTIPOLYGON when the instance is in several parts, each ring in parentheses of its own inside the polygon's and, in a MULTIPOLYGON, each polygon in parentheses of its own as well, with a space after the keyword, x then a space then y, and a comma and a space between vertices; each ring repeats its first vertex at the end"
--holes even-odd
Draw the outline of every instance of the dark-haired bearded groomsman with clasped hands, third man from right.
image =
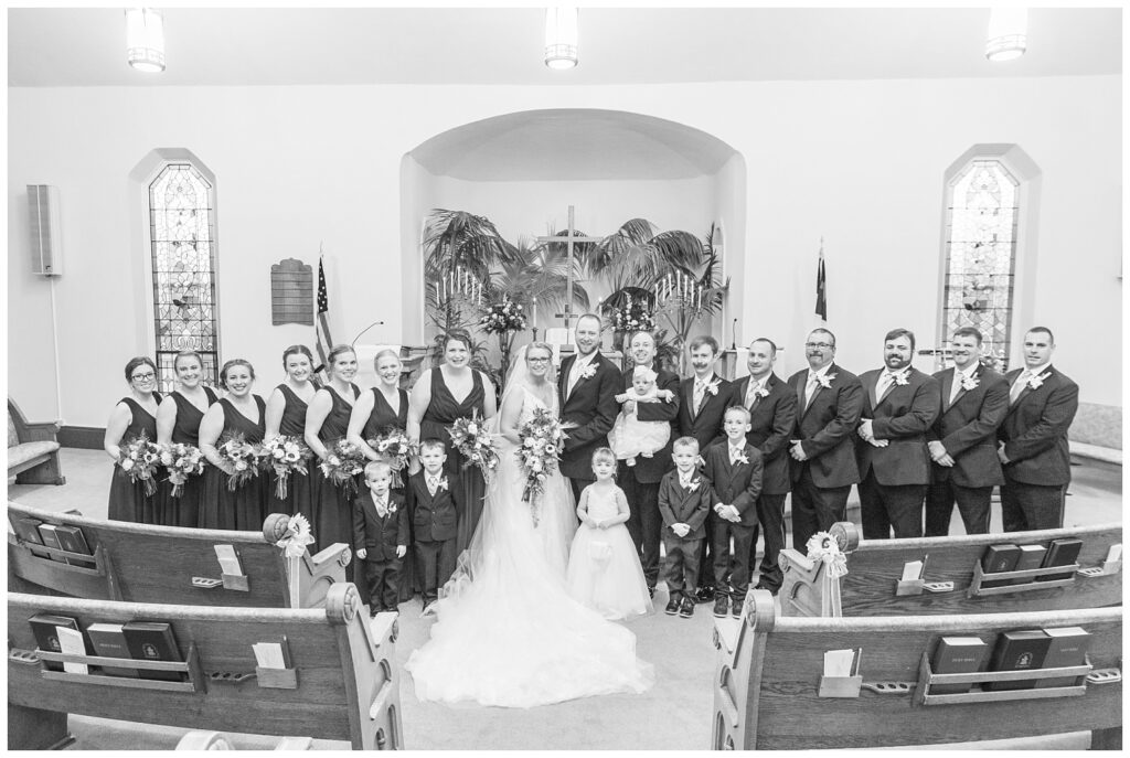
POLYGON ((938 382, 911 365, 914 332, 894 329, 883 341, 884 368, 860 375, 863 412, 859 499, 863 539, 922 537, 922 500, 930 485, 925 433, 938 417, 938 382))

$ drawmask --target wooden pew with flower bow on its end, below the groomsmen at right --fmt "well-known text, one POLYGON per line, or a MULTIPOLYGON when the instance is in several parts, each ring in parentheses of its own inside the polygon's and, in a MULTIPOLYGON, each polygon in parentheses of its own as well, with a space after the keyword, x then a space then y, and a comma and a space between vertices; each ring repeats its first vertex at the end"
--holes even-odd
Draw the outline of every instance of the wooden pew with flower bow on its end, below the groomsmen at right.
POLYGON ((1121 524, 1034 532, 932 537, 904 540, 860 540, 851 522, 833 524, 829 533, 846 555, 847 575, 825 598, 824 569, 793 549, 781 552, 784 575, 780 600, 785 616, 889 616, 988 613, 1027 610, 1101 608, 1122 603, 1121 561, 1107 564, 1107 551, 1122 543, 1121 524), (1083 541, 1078 565, 993 574, 985 578, 1017 580, 1018 584, 981 586, 981 557, 990 544, 1048 544, 1053 539, 1083 541), (903 583, 903 566, 925 563, 923 577, 903 583), (1069 580, 1036 581, 1041 574, 1067 573, 1069 580), (935 591, 931 591, 931 586, 935 591), (838 608, 838 611, 836 610, 838 608))

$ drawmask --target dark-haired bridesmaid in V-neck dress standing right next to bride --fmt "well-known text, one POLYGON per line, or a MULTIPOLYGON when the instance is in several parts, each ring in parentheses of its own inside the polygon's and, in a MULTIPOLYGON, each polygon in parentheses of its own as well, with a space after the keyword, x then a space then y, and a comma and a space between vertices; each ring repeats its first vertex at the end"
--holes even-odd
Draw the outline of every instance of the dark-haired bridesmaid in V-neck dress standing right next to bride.
POLYGON ((470 366, 471 336, 467 330, 451 330, 444 336, 442 345, 443 364, 438 368, 425 371, 412 386, 408 407, 408 436, 417 442, 428 437, 442 439, 447 450, 447 480, 453 487, 463 489, 464 512, 459 514, 459 531, 455 535, 458 554, 470 543, 479 516, 483 515, 486 485, 478 467, 463 468, 464 459, 452 444, 447 427, 458 418, 470 418, 476 411, 480 419, 493 417, 497 410, 497 399, 494 384, 486 374, 470 366))

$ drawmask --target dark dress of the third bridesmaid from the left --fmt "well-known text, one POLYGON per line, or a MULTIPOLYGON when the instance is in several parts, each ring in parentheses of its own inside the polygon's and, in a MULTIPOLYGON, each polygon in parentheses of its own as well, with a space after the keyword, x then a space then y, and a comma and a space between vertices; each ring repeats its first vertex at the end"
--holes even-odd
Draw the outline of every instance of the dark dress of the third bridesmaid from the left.
MULTIPOLYGON (((255 399, 255 408, 259 409, 258 422, 236 410, 227 398, 219 401, 224 408, 224 432, 216 442, 217 447, 227 441, 228 435, 237 432, 243 434, 244 442, 255 444, 263 441, 263 416, 267 403, 259 395, 252 397, 255 399)), ((263 520, 267 519, 269 486, 268 477, 260 472, 258 477, 243 482, 233 493, 227 488, 227 474, 221 469, 208 464, 205 467, 205 497, 200 504, 200 528, 262 531, 263 520)))

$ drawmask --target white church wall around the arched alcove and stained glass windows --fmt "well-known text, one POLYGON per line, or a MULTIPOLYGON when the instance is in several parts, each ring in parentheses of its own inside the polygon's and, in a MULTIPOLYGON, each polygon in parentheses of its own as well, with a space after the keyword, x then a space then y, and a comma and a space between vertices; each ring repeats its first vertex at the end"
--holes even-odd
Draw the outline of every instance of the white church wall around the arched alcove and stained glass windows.
MULTIPOLYGON (((131 208, 128 174, 155 148, 192 150, 217 176, 221 357, 249 358, 259 369, 258 391, 267 394, 281 376, 281 349, 313 342, 310 329, 270 325, 271 263, 294 256, 316 264, 322 245, 334 337, 348 341, 384 319, 389 323, 365 340, 399 342, 414 328, 400 315, 418 277, 403 263, 418 254, 418 227, 403 228, 411 208, 418 214, 438 204, 432 199, 444 193, 458 199, 493 191, 457 192, 453 180, 425 177, 402 198, 403 156, 440 132, 499 113, 594 107, 681 122, 741 156, 745 189, 736 189, 734 166, 703 180, 714 182, 713 212, 692 207, 680 215, 657 199, 638 215, 696 234, 716 217, 725 220, 728 252, 746 254, 734 281, 740 299, 736 294, 727 319, 739 319, 739 341, 782 336, 789 349, 781 373, 802 365, 800 345, 816 319, 822 235, 828 325, 838 334, 843 365, 855 372, 878 365, 883 333, 895 325, 913 329, 920 346, 932 345, 942 173, 974 143, 1019 145, 1044 178, 1038 265, 1020 284, 1031 290, 1033 319, 1055 330, 1057 364, 1080 380, 1083 399, 1120 406, 1120 88, 1119 77, 1087 77, 10 89, 9 392, 34 418, 61 412, 69 424, 102 426, 127 390, 121 365, 151 352, 151 315, 142 306, 148 250, 132 243, 144 209, 131 208), (50 291, 31 273, 27 252, 28 183, 61 191, 61 411, 50 291)), ((628 217, 617 209, 611 220, 586 220, 601 204, 598 188, 586 194, 568 183, 544 189, 549 210, 531 195, 514 204, 512 216, 492 215, 507 238, 511 227, 540 232, 550 211, 562 227, 568 202, 588 232, 607 233, 628 217)), ((729 324, 725 330, 729 345, 729 324)), ((924 359, 916 365, 930 368, 924 359)))

